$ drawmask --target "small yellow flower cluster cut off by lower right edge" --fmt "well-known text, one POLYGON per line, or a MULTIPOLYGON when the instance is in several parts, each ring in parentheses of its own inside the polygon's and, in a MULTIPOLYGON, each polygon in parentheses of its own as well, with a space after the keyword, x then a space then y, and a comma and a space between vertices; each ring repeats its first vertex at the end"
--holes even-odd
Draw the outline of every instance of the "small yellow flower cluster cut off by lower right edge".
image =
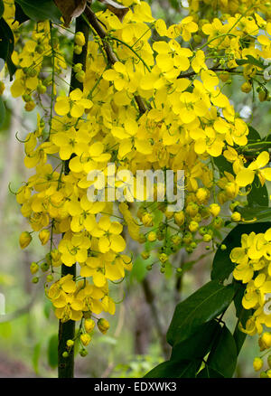
MULTIPOLYGON (((264 328, 271 327, 271 229, 265 233, 242 234, 241 247, 231 250, 230 259, 236 265, 233 277, 246 285, 242 306, 253 311, 245 328, 240 325, 240 329, 248 335, 260 335, 260 350, 270 352, 271 334, 264 328)), ((268 357, 269 365, 270 359, 268 357)), ((263 360, 255 358, 255 370, 262 367, 263 360)), ((261 376, 270 378, 271 371, 261 372, 261 376)))

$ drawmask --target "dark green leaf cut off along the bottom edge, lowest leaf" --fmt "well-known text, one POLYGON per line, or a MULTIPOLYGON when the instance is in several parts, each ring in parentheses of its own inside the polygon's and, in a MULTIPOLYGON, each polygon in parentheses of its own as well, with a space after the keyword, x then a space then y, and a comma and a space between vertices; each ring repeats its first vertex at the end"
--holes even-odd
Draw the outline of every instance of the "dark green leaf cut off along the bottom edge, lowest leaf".
POLYGON ((197 361, 167 361, 147 372, 144 378, 195 378, 198 365, 197 361))

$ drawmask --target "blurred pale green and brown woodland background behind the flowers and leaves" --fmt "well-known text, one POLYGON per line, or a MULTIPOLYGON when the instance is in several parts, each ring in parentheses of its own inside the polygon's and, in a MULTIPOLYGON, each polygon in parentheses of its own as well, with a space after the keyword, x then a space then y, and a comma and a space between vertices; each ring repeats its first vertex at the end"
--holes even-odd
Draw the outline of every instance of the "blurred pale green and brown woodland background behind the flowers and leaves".
MULTIPOLYGON (((154 16, 166 24, 179 22, 186 14, 185 2, 149 3, 154 16)), ((257 99, 243 93, 243 82, 235 77, 224 92, 240 116, 266 136, 271 126, 270 104, 259 106, 257 99)), ((25 112, 22 99, 8 96, 9 84, 5 80, 7 117, 0 129, 0 293, 5 296, 5 315, 0 315, 0 377, 56 377, 58 321, 42 282, 33 285, 29 270, 31 262, 42 257, 42 247, 33 239, 27 250, 20 249, 20 233, 28 228, 13 193, 30 172, 23 166, 23 144, 18 139, 35 129, 37 110, 25 112)), ((96 333, 89 355, 77 355, 77 377, 142 377, 163 362, 169 354, 165 333, 175 305, 210 280, 212 254, 204 246, 191 255, 176 255, 174 265, 185 263, 187 269, 182 276, 161 274, 159 269, 148 272, 149 262, 140 256, 144 247, 131 243, 129 248, 134 252, 134 269, 123 283, 111 286, 119 302, 117 313, 108 318, 111 327, 107 335, 96 333)), ((234 314, 232 307, 225 316, 230 330, 236 325, 234 314)), ((235 376, 257 376, 252 362, 258 353, 257 336, 248 337, 235 376)))

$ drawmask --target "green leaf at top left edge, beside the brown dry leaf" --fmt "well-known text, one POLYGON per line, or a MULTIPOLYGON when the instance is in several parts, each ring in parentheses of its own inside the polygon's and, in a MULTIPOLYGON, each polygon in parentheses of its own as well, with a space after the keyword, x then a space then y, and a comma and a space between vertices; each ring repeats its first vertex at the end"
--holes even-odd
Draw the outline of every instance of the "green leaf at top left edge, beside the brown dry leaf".
POLYGON ((33 21, 45 21, 47 19, 60 23, 61 12, 52 0, 15 0, 21 5, 23 13, 33 21))

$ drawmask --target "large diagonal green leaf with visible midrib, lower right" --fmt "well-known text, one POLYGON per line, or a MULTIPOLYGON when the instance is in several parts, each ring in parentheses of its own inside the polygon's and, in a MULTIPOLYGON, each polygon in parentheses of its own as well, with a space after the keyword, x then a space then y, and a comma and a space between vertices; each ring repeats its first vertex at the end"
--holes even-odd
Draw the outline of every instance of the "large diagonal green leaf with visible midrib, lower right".
POLYGON ((168 343, 175 345, 189 338, 198 327, 220 315, 233 296, 231 285, 223 286, 217 280, 208 282, 176 306, 167 332, 168 343))

